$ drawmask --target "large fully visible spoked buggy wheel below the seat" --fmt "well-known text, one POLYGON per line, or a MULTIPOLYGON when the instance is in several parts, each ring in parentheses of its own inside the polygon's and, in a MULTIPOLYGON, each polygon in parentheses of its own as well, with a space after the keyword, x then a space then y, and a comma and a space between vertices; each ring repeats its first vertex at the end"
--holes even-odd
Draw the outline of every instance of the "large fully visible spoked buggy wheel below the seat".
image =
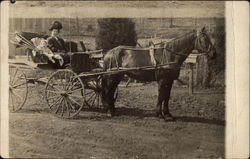
POLYGON ((45 87, 45 99, 50 111, 61 118, 73 118, 84 105, 83 83, 71 70, 52 74, 45 87))

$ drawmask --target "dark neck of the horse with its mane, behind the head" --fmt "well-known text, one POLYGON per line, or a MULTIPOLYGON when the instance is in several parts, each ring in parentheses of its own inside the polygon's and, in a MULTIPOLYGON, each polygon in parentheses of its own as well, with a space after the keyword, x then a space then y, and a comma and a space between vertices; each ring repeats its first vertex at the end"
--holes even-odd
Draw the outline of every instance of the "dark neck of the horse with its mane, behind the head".
POLYGON ((173 51, 180 51, 181 49, 190 46, 191 43, 193 42, 194 37, 195 37, 195 32, 192 31, 181 37, 175 38, 170 42, 166 42, 164 47, 169 48, 173 51))

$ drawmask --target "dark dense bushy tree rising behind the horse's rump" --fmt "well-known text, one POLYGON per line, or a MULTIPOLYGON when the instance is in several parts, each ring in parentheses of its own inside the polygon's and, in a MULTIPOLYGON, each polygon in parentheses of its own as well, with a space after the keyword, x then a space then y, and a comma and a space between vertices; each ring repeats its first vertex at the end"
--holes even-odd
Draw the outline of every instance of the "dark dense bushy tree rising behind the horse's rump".
POLYGON ((135 23, 128 18, 98 19, 96 48, 108 51, 119 45, 135 46, 135 23))

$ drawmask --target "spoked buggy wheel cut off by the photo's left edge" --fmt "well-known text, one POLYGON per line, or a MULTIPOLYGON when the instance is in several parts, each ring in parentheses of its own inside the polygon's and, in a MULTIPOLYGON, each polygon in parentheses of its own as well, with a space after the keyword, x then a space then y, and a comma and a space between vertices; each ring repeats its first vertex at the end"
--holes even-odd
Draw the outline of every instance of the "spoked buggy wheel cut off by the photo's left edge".
POLYGON ((9 108, 11 112, 22 109, 27 100, 28 83, 20 69, 9 67, 9 108))

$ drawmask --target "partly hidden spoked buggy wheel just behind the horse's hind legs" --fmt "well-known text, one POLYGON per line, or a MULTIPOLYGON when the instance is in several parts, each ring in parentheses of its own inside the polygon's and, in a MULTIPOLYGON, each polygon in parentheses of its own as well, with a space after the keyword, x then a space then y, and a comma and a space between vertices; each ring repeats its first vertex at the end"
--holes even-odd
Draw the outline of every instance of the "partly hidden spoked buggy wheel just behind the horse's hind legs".
POLYGON ((89 80, 86 84, 84 84, 84 97, 85 104, 89 108, 100 107, 101 103, 101 76, 89 80))

